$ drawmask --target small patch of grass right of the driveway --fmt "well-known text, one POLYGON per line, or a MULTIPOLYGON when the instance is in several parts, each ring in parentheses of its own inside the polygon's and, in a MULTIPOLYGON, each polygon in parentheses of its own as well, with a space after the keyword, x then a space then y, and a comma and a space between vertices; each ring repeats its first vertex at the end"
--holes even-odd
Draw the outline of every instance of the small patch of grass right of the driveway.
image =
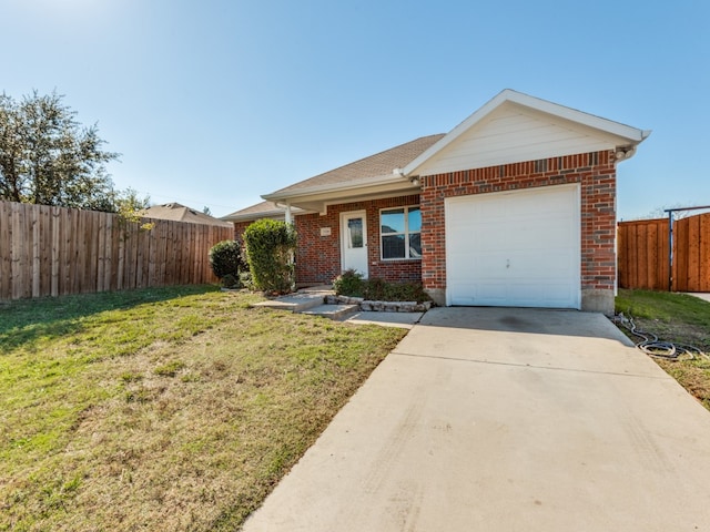
MULTIPOLYGON (((662 340, 692 345, 710 354, 710 303, 687 294, 619 290, 616 311, 633 317, 638 328, 662 340)), ((625 330, 627 334, 628 331, 625 330)), ((629 335, 633 341, 640 338, 629 335)), ((710 359, 653 358, 671 377, 710 410, 710 359)))

